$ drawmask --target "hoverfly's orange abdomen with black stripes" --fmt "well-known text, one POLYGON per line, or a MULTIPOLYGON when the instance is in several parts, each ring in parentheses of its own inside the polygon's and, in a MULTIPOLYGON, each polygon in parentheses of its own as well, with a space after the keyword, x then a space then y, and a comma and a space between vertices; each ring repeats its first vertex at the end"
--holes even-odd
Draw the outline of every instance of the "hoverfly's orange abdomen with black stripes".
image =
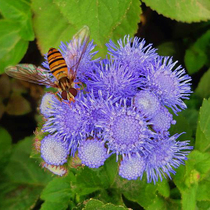
POLYGON ((48 55, 50 71, 57 80, 67 77, 68 68, 62 54, 55 48, 50 48, 48 55))

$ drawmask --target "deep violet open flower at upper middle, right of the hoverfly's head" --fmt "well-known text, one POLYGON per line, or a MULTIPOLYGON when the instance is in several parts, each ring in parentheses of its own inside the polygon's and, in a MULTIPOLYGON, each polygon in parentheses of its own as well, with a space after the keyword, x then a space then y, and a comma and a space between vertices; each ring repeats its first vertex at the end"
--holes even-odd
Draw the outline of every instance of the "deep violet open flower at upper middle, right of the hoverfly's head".
POLYGON ((138 74, 131 71, 128 65, 114 60, 105 59, 99 65, 94 65, 88 78, 87 88, 93 90, 96 96, 101 90, 105 96, 109 93, 115 97, 131 98, 142 87, 138 74))

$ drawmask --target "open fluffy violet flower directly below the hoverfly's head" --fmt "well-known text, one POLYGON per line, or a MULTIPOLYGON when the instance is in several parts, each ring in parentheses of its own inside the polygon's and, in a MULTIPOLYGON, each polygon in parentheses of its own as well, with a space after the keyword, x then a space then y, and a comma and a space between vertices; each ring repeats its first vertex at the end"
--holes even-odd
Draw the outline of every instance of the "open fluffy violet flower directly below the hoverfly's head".
MULTIPOLYGON (((78 96, 79 98, 79 96, 78 96)), ((51 107, 43 130, 50 134, 58 134, 64 140, 69 141, 71 153, 77 150, 80 139, 85 138, 88 132, 88 117, 85 108, 77 100, 71 106, 59 101, 56 97, 51 98, 51 107)))

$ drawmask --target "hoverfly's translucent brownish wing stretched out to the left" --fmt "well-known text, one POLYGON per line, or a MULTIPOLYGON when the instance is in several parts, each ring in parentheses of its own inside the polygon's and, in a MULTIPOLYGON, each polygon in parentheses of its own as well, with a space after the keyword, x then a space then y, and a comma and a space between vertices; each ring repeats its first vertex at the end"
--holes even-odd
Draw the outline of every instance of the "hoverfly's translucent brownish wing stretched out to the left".
POLYGON ((36 67, 32 64, 18 64, 9 66, 5 69, 5 73, 15 79, 24 80, 27 82, 48 85, 54 87, 55 84, 50 80, 51 75, 47 70, 36 67))

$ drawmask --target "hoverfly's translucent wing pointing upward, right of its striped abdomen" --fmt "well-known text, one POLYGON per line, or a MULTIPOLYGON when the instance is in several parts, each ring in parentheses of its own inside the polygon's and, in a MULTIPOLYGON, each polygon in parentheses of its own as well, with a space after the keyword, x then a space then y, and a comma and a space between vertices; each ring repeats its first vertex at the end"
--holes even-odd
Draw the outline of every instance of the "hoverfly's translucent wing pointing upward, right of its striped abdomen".
POLYGON ((67 60, 70 60, 70 69, 76 75, 80 61, 82 60, 88 46, 90 31, 88 26, 83 26, 72 38, 68 45, 67 60))

